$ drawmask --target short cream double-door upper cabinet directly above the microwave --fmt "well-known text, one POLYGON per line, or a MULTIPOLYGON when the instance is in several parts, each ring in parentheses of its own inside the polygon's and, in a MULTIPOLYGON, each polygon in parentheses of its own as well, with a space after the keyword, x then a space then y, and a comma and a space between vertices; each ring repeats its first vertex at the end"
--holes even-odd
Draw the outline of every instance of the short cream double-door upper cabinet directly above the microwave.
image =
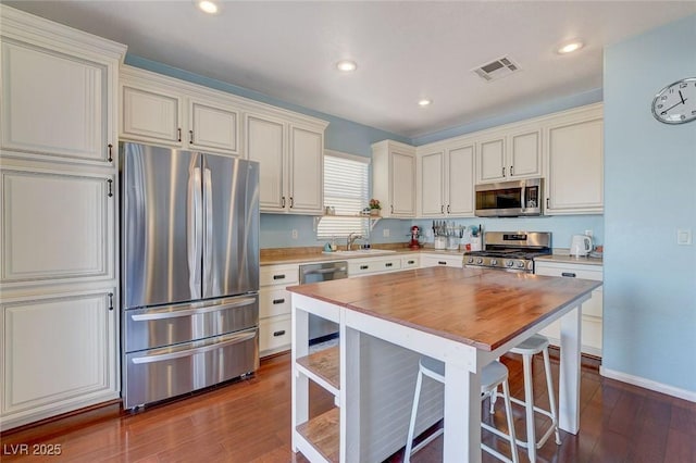
POLYGON ((540 126, 509 128, 478 140, 476 182, 542 176, 540 126))

